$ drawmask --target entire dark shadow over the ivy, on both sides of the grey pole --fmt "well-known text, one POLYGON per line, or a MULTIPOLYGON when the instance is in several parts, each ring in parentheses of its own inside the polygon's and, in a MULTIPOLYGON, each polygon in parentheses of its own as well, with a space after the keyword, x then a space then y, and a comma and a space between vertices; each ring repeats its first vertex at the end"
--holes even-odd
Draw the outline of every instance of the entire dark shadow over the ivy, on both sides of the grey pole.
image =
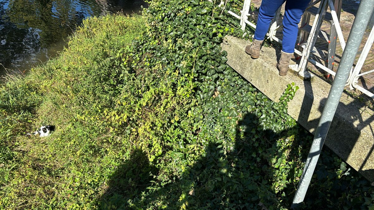
MULTIPOLYGON (((237 122, 233 146, 216 142, 218 138, 212 136, 204 154, 185 169, 156 169, 143 151, 135 149, 111 176, 106 193, 98 201, 100 209, 290 207, 303 169, 300 160, 305 162, 312 136, 300 128, 279 133, 263 130, 263 122, 251 113, 242 119, 237 122), (183 170, 181 176, 175 175, 177 170, 183 170)), ((357 191, 370 192, 372 187, 346 166, 324 148, 300 209, 361 207, 363 201, 357 191), (347 170, 342 178, 337 174, 339 167, 347 170), (356 200, 348 200, 347 195, 354 195, 356 200)))

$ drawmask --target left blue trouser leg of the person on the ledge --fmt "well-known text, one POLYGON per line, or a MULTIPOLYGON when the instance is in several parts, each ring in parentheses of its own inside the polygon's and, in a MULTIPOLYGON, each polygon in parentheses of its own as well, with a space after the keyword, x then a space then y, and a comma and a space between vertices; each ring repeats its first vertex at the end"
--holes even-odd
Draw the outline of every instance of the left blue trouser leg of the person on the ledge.
POLYGON ((270 22, 274 18, 276 11, 285 1, 286 0, 263 0, 261 2, 254 35, 255 40, 264 40, 269 30, 270 22))

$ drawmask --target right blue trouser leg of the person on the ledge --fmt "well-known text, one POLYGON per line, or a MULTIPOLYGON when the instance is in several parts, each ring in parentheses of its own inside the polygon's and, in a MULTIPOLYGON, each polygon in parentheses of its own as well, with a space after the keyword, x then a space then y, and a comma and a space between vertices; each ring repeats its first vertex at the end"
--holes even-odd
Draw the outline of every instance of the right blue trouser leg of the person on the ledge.
POLYGON ((283 17, 282 51, 295 52, 298 24, 310 0, 287 0, 283 17))

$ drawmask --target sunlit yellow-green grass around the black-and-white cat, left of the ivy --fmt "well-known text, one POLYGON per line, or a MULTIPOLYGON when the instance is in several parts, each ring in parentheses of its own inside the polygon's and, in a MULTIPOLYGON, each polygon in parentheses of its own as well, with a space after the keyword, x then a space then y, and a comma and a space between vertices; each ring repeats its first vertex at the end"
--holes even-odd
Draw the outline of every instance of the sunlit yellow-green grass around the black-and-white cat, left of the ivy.
POLYGON ((1 87, 0 206, 69 209, 105 190, 102 180, 119 161, 110 154, 129 146, 111 135, 113 113, 104 114, 125 72, 114 68, 117 53, 144 28, 141 16, 90 18, 58 58, 1 87), (45 124, 56 125, 52 136, 25 136, 45 124))

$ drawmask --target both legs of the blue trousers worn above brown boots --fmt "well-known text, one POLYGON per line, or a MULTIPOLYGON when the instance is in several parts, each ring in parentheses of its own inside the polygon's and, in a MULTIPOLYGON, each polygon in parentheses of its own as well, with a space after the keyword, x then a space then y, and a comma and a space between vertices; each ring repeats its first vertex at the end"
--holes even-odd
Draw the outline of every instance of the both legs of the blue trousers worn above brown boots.
POLYGON ((293 53, 295 52, 298 24, 310 0, 262 0, 254 38, 256 40, 264 40, 269 30, 270 22, 274 18, 278 8, 281 7, 285 1, 282 51, 293 53))

